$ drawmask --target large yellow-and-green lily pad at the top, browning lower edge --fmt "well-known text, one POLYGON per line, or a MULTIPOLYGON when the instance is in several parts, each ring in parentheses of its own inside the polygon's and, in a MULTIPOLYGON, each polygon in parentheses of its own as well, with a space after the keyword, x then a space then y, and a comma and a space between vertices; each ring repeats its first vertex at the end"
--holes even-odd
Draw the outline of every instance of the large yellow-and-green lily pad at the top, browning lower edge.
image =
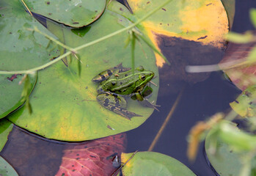
MULTIPOLYGON (((235 1, 226 2, 230 8, 235 6, 235 1)), ((164 3, 164 0, 128 0, 134 15, 126 15, 127 13, 116 8, 109 7, 109 9, 136 22, 161 3, 164 3)), ((171 1, 137 27, 147 35, 159 51, 161 37, 170 37, 170 40, 180 38, 221 49, 225 46, 224 35, 229 30, 229 23, 227 12, 220 0, 171 1)), ((158 54, 156 54, 156 62, 158 67, 163 67, 165 64, 164 59, 158 54)))

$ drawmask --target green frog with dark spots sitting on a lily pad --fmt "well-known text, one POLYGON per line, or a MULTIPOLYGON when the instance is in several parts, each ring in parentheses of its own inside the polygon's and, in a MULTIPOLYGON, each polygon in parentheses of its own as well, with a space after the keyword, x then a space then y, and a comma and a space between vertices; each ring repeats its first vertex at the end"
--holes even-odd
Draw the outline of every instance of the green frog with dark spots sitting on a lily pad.
POLYGON ((99 73, 92 81, 100 82, 97 89, 100 105, 131 120, 131 117, 142 116, 126 110, 125 98, 131 97, 144 106, 158 110, 157 105, 153 105, 146 98, 152 93, 149 83, 154 76, 155 73, 142 66, 136 67, 133 73, 131 68, 122 67, 120 64, 99 73))

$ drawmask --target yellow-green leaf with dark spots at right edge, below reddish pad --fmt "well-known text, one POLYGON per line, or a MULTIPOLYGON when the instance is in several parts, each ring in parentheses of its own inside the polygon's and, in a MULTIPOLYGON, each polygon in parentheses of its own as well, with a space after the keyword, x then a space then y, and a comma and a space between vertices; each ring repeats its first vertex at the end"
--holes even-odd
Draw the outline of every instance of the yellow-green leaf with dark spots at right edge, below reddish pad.
POLYGON ((256 85, 245 89, 230 106, 241 117, 256 116, 256 85))

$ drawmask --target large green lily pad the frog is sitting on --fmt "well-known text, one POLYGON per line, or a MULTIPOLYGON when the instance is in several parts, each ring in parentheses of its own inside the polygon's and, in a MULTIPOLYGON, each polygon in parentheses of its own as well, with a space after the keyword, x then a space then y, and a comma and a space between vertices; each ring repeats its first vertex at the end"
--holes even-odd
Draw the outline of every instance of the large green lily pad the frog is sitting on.
MULTIPOLYGON (((89 30, 84 28, 80 29, 81 32, 73 32, 52 23, 48 23, 48 29, 63 32, 60 35, 65 37, 65 44, 75 47, 122 29, 122 23, 118 22, 125 20, 107 10, 100 21, 95 21, 89 30), (87 31, 84 37, 79 35, 84 33, 83 30, 87 31)), ((9 120, 47 138, 65 141, 97 139, 129 131, 141 125, 150 117, 153 109, 128 98, 128 111, 142 117, 127 120, 100 106, 96 100, 98 84, 91 81, 101 71, 121 62, 123 67, 131 67, 131 45, 124 48, 127 37, 128 32, 123 32, 78 51, 81 58, 81 77, 78 76, 78 64, 74 58, 68 67, 63 62, 58 62, 39 71, 37 87, 30 96, 33 114, 29 115, 26 109, 21 108, 8 117, 9 120)), ((158 84, 158 68, 153 51, 145 43, 137 44, 135 57, 136 66, 142 65, 146 70, 153 71, 156 75, 153 82, 158 84)), ((158 87, 152 88, 153 95, 149 100, 156 102, 158 87)))

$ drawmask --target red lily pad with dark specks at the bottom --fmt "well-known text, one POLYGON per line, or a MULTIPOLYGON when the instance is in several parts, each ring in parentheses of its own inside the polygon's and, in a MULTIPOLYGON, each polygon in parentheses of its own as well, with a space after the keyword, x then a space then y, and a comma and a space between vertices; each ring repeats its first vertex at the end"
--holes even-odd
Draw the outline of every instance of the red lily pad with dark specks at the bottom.
POLYGON ((56 176, 101 175, 109 176, 117 168, 113 160, 125 150, 126 136, 118 134, 81 144, 70 145, 64 150, 62 164, 56 176))

